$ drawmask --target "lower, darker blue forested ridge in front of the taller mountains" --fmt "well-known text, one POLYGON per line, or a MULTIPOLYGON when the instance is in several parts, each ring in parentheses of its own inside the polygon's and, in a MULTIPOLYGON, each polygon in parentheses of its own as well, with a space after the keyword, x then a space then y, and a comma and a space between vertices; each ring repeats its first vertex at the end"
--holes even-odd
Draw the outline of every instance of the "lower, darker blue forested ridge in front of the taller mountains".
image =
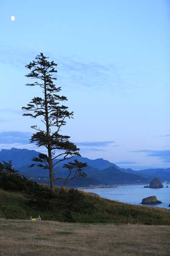
MULTIPOLYGON (((58 166, 57 170, 59 175, 62 177, 67 177, 68 170, 63 169, 62 166, 58 166)), ((26 177, 49 177, 48 170, 41 169, 39 167, 29 168, 28 166, 22 166, 19 169, 20 173, 26 177)), ((140 183, 149 183, 149 180, 139 176, 133 175, 130 173, 122 172, 114 166, 110 166, 104 170, 98 170, 91 166, 87 166, 84 169, 87 176, 85 178, 77 178, 69 183, 69 186, 89 186, 89 185, 116 185, 116 184, 140 184, 140 183)), ((49 181, 41 180, 43 183, 49 183, 49 181)), ((57 185, 62 184, 62 180, 58 180, 57 185)))

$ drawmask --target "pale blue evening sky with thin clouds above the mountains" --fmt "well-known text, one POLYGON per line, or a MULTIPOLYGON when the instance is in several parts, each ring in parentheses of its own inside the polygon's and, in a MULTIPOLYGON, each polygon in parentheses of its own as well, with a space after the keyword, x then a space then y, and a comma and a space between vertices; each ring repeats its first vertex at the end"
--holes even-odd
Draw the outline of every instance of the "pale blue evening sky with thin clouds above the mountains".
POLYGON ((83 157, 170 167, 168 0, 0 0, 0 38, 0 150, 44 150, 21 111, 40 95, 25 66, 43 52, 74 111, 62 133, 83 157))

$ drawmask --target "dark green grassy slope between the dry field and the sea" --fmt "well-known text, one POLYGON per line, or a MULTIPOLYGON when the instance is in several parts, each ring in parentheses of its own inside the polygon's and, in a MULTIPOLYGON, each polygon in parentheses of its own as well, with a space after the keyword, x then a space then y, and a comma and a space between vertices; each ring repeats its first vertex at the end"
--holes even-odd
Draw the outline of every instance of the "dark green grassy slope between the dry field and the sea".
POLYGON ((0 189, 0 218, 81 222, 170 225, 170 210, 123 204, 74 189, 50 195, 48 188, 34 195, 0 189), (41 199, 43 198, 43 199, 41 199))

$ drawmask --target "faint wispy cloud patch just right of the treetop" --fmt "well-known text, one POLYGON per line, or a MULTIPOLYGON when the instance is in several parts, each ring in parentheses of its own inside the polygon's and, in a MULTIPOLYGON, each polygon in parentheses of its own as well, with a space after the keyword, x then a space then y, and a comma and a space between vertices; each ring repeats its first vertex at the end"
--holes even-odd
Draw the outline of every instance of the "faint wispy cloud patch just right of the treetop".
MULTIPOLYGON (((54 57, 55 58, 55 57, 54 57)), ((80 58, 60 57, 59 79, 69 81, 74 86, 103 87, 104 84, 112 87, 113 84, 123 87, 123 81, 116 64, 99 64, 94 61, 86 61, 80 58), (63 76, 67 74, 66 76, 63 76)))

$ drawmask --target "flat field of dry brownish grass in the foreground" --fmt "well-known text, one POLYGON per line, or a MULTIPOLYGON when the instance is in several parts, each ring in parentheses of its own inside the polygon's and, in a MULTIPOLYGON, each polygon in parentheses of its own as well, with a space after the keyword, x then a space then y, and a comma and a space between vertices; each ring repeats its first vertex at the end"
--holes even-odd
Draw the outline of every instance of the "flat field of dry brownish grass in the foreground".
POLYGON ((0 256, 168 256, 170 227, 0 219, 0 256))

